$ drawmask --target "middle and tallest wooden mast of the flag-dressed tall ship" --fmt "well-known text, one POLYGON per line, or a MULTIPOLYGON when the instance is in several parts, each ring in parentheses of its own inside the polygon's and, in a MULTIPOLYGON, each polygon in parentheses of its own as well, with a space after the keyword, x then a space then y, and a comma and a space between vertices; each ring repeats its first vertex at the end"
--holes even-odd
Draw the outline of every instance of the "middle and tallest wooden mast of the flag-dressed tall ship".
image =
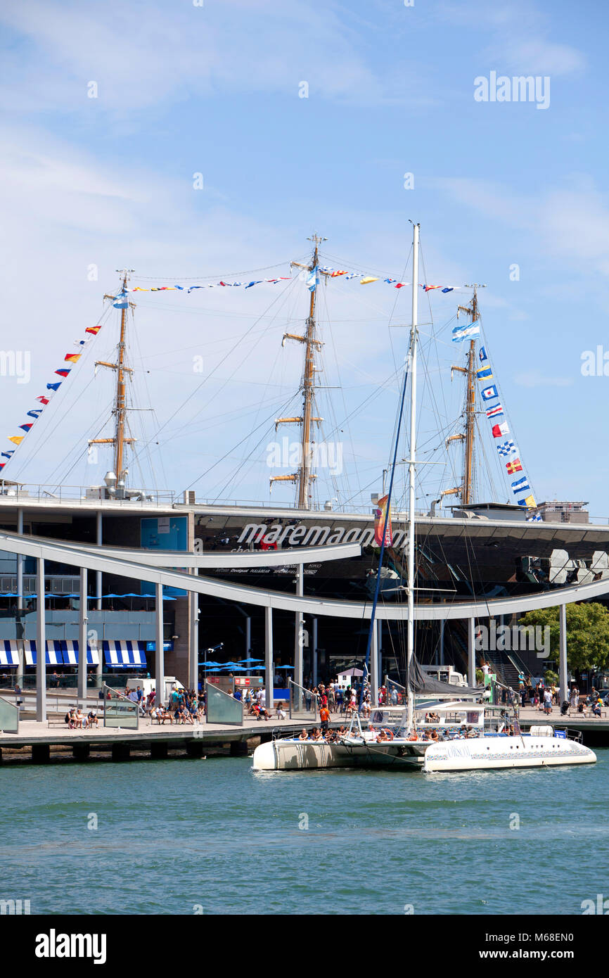
MULTIPOLYGON (((297 506, 299 510, 308 510, 310 508, 310 493, 309 486, 311 482, 317 478, 316 474, 311 471, 313 464, 313 425, 315 423, 319 424, 323 422, 323 418, 316 418, 313 416, 313 407, 315 401, 315 351, 321 350, 322 343, 317 338, 317 324, 315 321, 316 312, 316 302, 317 302, 317 284, 319 282, 319 248, 322 242, 327 241, 326 238, 319 238, 318 235, 312 235, 307 241, 311 241, 314 244, 313 255, 311 258, 311 264, 300 265, 299 262, 292 262, 293 265, 299 268, 304 267, 310 274, 310 276, 315 276, 314 284, 311 287, 311 298, 309 300, 309 316, 306 322, 305 334, 299 335, 298 333, 283 333, 283 343, 286 339, 295 339, 299 343, 304 343, 305 345, 305 360, 304 360, 304 374, 302 381, 302 417, 301 418, 278 418, 275 422, 275 430, 277 431, 280 424, 300 424, 301 425, 301 435, 300 435, 300 466, 298 471, 293 472, 291 475, 274 475, 271 477, 270 484, 273 487, 274 482, 294 482, 298 484, 298 502, 297 506)), ((322 273, 323 274, 323 273, 322 273)))

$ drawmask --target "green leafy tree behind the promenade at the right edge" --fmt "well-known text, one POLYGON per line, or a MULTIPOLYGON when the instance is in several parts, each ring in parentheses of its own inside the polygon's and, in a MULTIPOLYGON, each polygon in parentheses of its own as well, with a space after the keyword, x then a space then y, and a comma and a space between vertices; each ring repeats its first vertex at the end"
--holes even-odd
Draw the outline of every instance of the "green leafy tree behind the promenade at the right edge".
MULTIPOLYGON (((519 625, 549 627, 550 653, 558 658, 558 608, 527 611, 519 625)), ((595 601, 567 604, 567 664, 571 672, 604 669, 609 662, 609 610, 595 601)))

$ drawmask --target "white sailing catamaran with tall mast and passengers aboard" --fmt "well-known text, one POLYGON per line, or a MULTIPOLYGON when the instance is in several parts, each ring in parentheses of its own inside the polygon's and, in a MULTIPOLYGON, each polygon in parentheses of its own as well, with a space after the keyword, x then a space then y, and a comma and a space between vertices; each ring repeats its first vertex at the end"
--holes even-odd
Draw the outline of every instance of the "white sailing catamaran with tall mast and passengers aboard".
MULTIPOLYGON (((411 379, 410 398, 410 458, 409 522, 408 522, 408 611, 407 611, 407 704, 398 718, 386 709, 373 709, 370 721, 362 724, 359 714, 352 717, 348 732, 331 733, 317 739, 283 737, 260 744, 254 751, 254 771, 301 771, 305 769, 347 767, 399 767, 433 772, 491 771, 505 768, 544 768, 566 764, 592 764, 596 755, 579 739, 570 738, 566 731, 554 731, 550 725, 532 727, 521 733, 517 721, 510 726, 507 715, 490 717, 489 708, 476 703, 479 690, 459 691, 463 699, 449 702, 427 701, 416 705, 413 674, 414 659, 414 477, 416 471, 416 345, 417 345, 417 283, 418 233, 413 225, 413 318, 410 350, 402 387, 402 400, 391 467, 389 493, 384 514, 384 526, 376 575, 376 587, 370 616, 370 638, 380 587, 380 567, 389 519, 393 477, 396 466, 400 426, 404 413, 407 379, 411 379), (467 699, 469 697, 469 699, 467 699), (495 722, 494 722, 495 721, 495 722)), ((475 316, 475 312, 473 314, 475 316)), ((472 320, 473 321, 473 320, 472 320)), ((425 685, 424 685, 425 686, 425 685)), ((432 684, 432 687, 434 684, 432 684)), ((443 684, 436 683, 436 691, 443 684)), ((429 684, 427 684, 429 688, 429 684)), ((418 691, 421 691, 420 685, 418 691)), ((427 689, 423 689, 427 691, 427 689)), ((442 692, 452 692, 447 687, 442 692)), ((361 705, 361 704, 360 704, 361 705)))

